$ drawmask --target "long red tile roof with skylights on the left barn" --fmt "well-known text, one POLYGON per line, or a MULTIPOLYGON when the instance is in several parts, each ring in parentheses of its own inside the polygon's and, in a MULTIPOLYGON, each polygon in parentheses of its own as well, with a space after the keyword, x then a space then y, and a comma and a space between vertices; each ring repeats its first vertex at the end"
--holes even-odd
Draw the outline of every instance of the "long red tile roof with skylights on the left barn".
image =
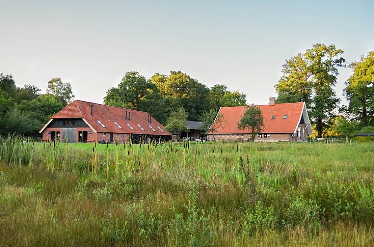
POLYGON ((51 119, 83 118, 95 132, 170 135, 164 126, 153 117, 149 123, 148 116, 149 114, 146 112, 75 100, 53 115, 51 119), (91 106, 93 107, 92 115, 91 106), (130 113, 129 120, 125 119, 126 111, 130 113))

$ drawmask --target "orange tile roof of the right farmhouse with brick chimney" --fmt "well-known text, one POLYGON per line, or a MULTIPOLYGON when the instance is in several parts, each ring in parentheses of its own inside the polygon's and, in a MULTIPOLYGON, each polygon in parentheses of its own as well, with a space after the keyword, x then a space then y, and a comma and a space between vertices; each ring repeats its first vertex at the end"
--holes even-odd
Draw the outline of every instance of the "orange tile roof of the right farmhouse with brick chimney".
MULTIPOLYGON (((304 102, 258 106, 264 118, 262 133, 293 133, 299 124, 304 102), (283 118, 287 115, 287 118, 283 118), (272 119, 272 116, 275 116, 272 119)), ((250 130, 238 129, 238 123, 246 111, 246 106, 221 107, 219 113, 224 121, 217 129, 217 134, 250 133, 250 130)), ((309 123, 309 120, 308 120, 309 123)))

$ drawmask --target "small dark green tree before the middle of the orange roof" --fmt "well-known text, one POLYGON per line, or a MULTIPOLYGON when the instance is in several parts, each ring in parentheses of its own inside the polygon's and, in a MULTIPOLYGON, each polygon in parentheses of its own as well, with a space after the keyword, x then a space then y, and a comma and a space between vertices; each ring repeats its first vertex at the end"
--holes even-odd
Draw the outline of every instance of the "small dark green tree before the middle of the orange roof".
POLYGON ((256 135, 261 133, 263 127, 264 122, 261 109, 255 105, 248 106, 238 124, 238 128, 250 130, 252 135, 251 141, 254 141, 256 135))

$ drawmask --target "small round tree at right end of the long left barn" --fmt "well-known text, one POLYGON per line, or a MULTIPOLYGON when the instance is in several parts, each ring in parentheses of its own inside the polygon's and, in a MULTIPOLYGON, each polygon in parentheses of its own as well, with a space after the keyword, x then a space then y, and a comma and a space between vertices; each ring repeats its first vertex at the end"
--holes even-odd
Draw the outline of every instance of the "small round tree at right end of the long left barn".
POLYGON ((165 129, 170 133, 178 133, 179 138, 181 138, 181 133, 183 131, 188 132, 189 129, 186 126, 186 121, 188 119, 188 112, 182 107, 172 111, 166 120, 165 129))

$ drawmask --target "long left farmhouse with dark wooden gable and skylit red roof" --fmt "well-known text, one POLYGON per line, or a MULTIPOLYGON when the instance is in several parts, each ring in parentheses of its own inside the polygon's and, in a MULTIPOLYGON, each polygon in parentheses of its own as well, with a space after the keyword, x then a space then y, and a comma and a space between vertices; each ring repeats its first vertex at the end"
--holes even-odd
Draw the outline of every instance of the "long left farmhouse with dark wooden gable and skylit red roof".
POLYGON ((164 126, 146 112, 75 100, 51 117, 39 131, 43 141, 67 142, 164 141, 164 126))

